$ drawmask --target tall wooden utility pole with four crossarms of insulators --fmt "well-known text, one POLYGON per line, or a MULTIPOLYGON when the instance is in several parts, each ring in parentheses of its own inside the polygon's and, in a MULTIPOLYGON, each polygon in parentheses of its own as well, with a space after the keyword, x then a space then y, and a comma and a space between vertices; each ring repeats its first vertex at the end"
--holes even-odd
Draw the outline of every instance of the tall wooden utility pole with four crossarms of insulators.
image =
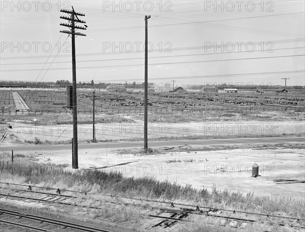
MULTIPOLYGON (((85 34, 75 32, 75 29, 86 30, 85 27, 76 26, 75 23, 86 23, 85 21, 79 20, 77 15, 85 16, 81 13, 76 13, 72 7, 72 11, 70 10, 60 10, 60 12, 64 12, 70 15, 70 17, 60 16, 61 19, 65 19, 69 21, 67 23, 60 23, 62 26, 67 26, 71 28, 71 31, 60 31, 61 33, 66 33, 71 35, 72 38, 72 75, 73 75, 73 87, 72 87, 72 98, 73 98, 73 149, 72 149, 72 168, 78 168, 78 149, 77 149, 77 107, 76 107, 76 60, 75 60, 75 36, 86 36, 85 34), (75 17, 76 19, 75 19, 75 17)), ((86 26, 86 25, 85 25, 86 26)), ((87 26, 86 26, 87 27, 87 26)))

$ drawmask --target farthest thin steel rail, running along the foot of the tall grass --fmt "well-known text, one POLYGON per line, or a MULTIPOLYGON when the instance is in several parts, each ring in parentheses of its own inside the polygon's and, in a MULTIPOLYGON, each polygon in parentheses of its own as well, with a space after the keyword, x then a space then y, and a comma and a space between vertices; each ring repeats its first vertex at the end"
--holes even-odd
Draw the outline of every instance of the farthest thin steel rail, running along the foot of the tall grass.
MULTIPOLYGON (((0 182, 0 184, 7 184, 10 185, 11 183, 5 183, 5 182, 0 182)), ((17 185, 17 186, 25 186, 28 187, 28 185, 20 185, 20 184, 11 184, 11 185, 17 185)), ((40 186, 32 186, 32 188, 44 188, 44 189, 53 189, 57 190, 56 188, 47 188, 47 187, 40 187, 40 186)), ((76 192, 76 193, 82 193, 80 191, 72 191, 72 190, 61 190, 61 191, 67 191, 67 192, 76 192)), ((48 193, 49 194, 49 193, 48 193)), ((1 195, 1 194, 0 194, 1 195)), ((102 196, 110 196, 110 197, 117 197, 117 198, 125 198, 125 199, 132 199, 132 200, 141 200, 141 201, 148 201, 148 202, 156 202, 156 203, 163 203, 163 204, 173 204, 177 206, 187 206, 187 207, 197 207, 195 205, 188 205, 188 204, 181 204, 177 202, 168 202, 168 201, 159 201, 159 200, 149 200, 149 199, 141 199, 141 198, 133 198, 133 197, 122 197, 122 196, 113 196, 109 194, 101 194, 99 195, 102 196)), ((112 203, 112 202, 111 202, 112 203)), ((227 211, 227 212, 232 212, 232 213, 243 213, 243 214, 252 214, 252 215, 258 215, 258 216, 266 216, 266 217, 275 217, 275 218, 283 218, 283 219, 292 219, 292 220, 298 220, 298 221, 305 221, 305 219, 299 219, 299 218, 292 218, 292 217, 284 217, 284 216, 277 216, 277 215, 269 215, 269 214, 260 214, 260 213, 251 213, 251 212, 244 212, 244 211, 235 211, 235 210, 226 210, 226 209, 218 209, 218 208, 211 208, 211 207, 204 207, 204 206, 198 206, 199 208, 203 209, 208 209, 208 210, 216 210, 216 211, 227 211)))

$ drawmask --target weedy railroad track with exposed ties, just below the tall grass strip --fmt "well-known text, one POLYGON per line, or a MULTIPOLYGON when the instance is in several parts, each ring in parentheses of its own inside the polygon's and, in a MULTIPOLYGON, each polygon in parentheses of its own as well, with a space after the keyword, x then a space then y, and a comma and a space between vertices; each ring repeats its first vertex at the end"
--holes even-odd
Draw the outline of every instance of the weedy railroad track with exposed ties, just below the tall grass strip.
MULTIPOLYGON (((4 183, 1 183, 1 184, 4 184, 4 183)), ((29 188, 31 188, 31 190, 10 189, 12 191, 9 194, 0 194, 0 197, 12 197, 15 199, 17 198, 19 200, 26 199, 26 200, 33 200, 36 202, 37 201, 47 202, 47 203, 52 202, 54 204, 61 204, 61 205, 66 205, 66 206, 86 207, 89 209, 103 210, 103 208, 100 208, 100 207, 94 207, 94 206, 87 207, 87 206, 74 204, 73 202, 71 203, 71 199, 75 199, 77 197, 71 196, 71 195, 60 194, 60 190, 59 190, 59 194, 58 194, 58 192, 55 194, 55 193, 48 193, 48 192, 33 191, 32 188, 35 188, 34 186, 33 187, 31 186, 29 188), (12 195, 12 193, 18 193, 18 192, 31 192, 32 197, 12 195)), ((38 188, 43 188, 43 187, 38 187, 38 188)), ((2 189, 9 189, 9 188, 2 188, 2 189)), ((55 189, 53 189, 53 190, 55 190, 55 189)), ((57 191, 58 191, 58 189, 57 189, 57 191)), ((69 191, 69 190, 62 190, 62 191, 69 191)), ((76 192, 76 191, 71 191, 71 192, 76 192)), ((81 193, 81 192, 76 192, 76 193, 81 193)), ((103 195, 103 194, 101 194, 101 195, 103 195)), ((112 195, 105 195, 105 196, 115 197, 112 195)), ((85 198, 85 197, 81 197, 81 198, 85 198)), ((160 212, 157 215, 149 214, 150 217, 155 217, 155 218, 161 219, 161 221, 158 221, 157 223, 154 223, 153 225, 148 226, 151 228, 158 227, 158 226, 167 228, 167 227, 172 227, 173 225, 175 225, 177 223, 185 223, 187 221, 190 221, 185 218, 187 218, 193 214, 202 215, 205 217, 218 218, 218 219, 220 219, 221 225, 231 226, 231 227, 235 227, 235 228, 245 228, 248 225, 251 225, 255 222, 258 222, 258 223, 267 222, 269 225, 280 225, 280 226, 288 225, 290 227, 295 227, 295 228, 302 228, 302 229, 305 228, 304 219, 289 218, 289 217, 268 215, 268 214, 241 212, 241 211, 235 212, 234 210, 216 209, 216 208, 210 208, 210 207, 193 206, 193 205, 157 201, 157 200, 145 200, 145 199, 143 200, 143 199, 130 198, 130 197, 121 197, 121 198, 126 198, 126 199, 130 199, 130 200, 139 200, 141 202, 150 201, 150 202, 155 202, 158 204, 163 204, 164 207, 160 207, 160 206, 154 207, 154 206, 147 206, 147 204, 144 206, 141 204, 135 204, 135 202, 127 203, 127 202, 107 201, 107 200, 103 201, 104 203, 107 202, 109 204, 114 204, 114 205, 127 205, 127 206, 131 206, 131 207, 142 207, 142 208, 146 208, 146 209, 149 208, 151 210, 159 210, 160 212), (229 213, 231 215, 229 215, 229 213), (237 215, 237 213, 240 214, 239 217, 232 217, 233 214, 237 215), (259 216, 260 219, 257 219, 257 217, 255 217, 255 216, 259 216), (282 220, 282 221, 280 221, 280 220, 282 220)), ((101 201, 100 201, 100 203, 101 203, 101 201)))

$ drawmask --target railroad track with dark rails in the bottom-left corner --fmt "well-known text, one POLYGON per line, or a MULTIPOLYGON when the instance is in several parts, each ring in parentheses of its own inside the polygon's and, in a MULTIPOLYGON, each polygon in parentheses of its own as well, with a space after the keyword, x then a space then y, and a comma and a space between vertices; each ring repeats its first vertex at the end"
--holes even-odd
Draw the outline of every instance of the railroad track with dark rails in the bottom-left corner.
MULTIPOLYGON (((111 232, 109 230, 94 228, 68 221, 57 220, 53 218, 41 217, 32 214, 23 214, 17 211, 0 208, 0 222, 6 225, 13 225, 20 228, 32 229, 36 231, 88 231, 88 232, 111 232), (69 230, 68 230, 69 229, 69 230), (72 229, 72 230, 71 230, 72 229)), ((4 226, 2 225, 2 228, 4 226)))

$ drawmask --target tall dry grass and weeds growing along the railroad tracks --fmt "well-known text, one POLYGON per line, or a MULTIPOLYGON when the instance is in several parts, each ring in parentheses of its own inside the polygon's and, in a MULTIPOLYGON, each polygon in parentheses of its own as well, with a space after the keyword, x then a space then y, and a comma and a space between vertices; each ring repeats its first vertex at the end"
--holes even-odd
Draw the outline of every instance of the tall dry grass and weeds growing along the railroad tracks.
MULTIPOLYGON (((20 154, 15 154, 12 164, 10 157, 9 153, 1 153, 1 182, 31 184, 33 186, 90 193, 87 194, 90 199, 76 199, 78 203, 82 202, 83 205, 89 206, 94 199, 101 199, 100 194, 113 194, 142 199, 187 202, 188 204, 212 206, 214 208, 229 207, 230 209, 236 209, 236 206, 239 206, 238 209, 241 211, 305 218, 303 211, 305 202, 295 200, 292 197, 272 198, 255 196, 253 193, 244 195, 239 192, 220 191, 217 190, 216 186, 212 191, 207 191, 204 188, 198 190, 192 188, 191 185, 181 186, 177 183, 157 181, 149 177, 125 178, 119 172, 71 170, 67 168, 68 164, 38 164, 35 163, 34 157, 20 154), (242 207, 240 208, 240 206, 242 207)), ((94 218, 99 217, 108 217, 113 221, 131 220, 134 223, 147 218, 147 215, 124 214, 118 216, 115 213, 99 212, 94 216, 94 218)), ((215 220, 212 221, 215 222, 215 220)), ((202 222, 202 220, 194 221, 186 229, 185 231, 231 231, 231 229, 228 230, 228 228, 219 225, 208 225, 206 221, 202 222)), ((248 229, 243 231, 261 231, 262 227, 250 226, 248 229)), ((282 231, 285 231, 285 229, 282 231)))

